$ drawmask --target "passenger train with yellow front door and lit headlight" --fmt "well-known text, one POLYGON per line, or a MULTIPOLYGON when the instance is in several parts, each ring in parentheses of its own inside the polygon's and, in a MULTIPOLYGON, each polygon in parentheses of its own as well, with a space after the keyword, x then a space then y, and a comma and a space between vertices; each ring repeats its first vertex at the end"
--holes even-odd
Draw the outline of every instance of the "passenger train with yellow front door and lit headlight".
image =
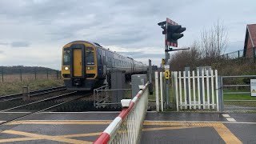
POLYGON ((126 78, 146 74, 148 66, 104 48, 96 42, 74 41, 62 47, 62 78, 67 90, 93 90, 108 79, 110 70, 122 70, 126 78))

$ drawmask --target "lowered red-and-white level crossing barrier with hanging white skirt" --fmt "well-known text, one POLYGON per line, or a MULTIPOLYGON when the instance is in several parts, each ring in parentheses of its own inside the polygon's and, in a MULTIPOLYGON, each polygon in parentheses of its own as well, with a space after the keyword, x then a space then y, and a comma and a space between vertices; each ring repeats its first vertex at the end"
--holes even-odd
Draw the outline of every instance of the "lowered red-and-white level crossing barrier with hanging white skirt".
POLYGON ((149 82, 139 87, 140 91, 133 99, 122 99, 123 110, 94 144, 139 143, 148 107, 149 82))

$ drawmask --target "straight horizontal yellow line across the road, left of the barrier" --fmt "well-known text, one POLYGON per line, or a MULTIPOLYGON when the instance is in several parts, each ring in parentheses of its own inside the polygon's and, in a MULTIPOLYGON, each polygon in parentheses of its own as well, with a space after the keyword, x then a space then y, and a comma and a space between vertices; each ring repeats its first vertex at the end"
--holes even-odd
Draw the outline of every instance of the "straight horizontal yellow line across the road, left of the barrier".
POLYGON ((14 121, 6 125, 109 125, 112 121, 14 121))

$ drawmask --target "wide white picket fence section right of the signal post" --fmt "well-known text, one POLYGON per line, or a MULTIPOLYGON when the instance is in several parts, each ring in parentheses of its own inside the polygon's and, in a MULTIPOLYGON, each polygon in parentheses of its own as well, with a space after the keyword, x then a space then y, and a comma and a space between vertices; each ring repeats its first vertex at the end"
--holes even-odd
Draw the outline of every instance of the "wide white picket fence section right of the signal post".
POLYGON ((218 110, 218 71, 172 72, 177 110, 218 110))

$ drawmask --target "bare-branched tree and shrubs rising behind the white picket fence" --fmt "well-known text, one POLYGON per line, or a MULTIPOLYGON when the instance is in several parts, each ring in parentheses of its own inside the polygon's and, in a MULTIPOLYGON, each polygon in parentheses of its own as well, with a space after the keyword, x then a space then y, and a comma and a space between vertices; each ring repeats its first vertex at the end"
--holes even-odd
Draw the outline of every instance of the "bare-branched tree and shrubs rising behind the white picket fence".
POLYGON ((227 31, 223 22, 217 22, 210 30, 203 29, 201 39, 194 41, 190 50, 181 50, 171 56, 171 70, 184 70, 190 66, 194 70, 198 66, 214 66, 222 60, 227 46, 227 31))

